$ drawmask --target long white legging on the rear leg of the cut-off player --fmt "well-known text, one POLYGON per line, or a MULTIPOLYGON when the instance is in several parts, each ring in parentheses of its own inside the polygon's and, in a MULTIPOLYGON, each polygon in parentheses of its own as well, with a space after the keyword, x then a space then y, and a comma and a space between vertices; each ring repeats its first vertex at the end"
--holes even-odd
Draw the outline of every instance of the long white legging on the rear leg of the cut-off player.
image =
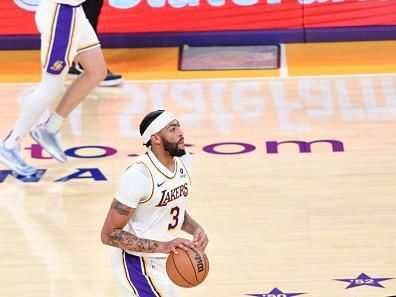
POLYGON ((67 71, 63 71, 59 75, 43 72, 40 84, 25 98, 19 117, 10 134, 4 140, 6 149, 13 149, 22 142, 27 132, 62 92, 66 75, 67 71))

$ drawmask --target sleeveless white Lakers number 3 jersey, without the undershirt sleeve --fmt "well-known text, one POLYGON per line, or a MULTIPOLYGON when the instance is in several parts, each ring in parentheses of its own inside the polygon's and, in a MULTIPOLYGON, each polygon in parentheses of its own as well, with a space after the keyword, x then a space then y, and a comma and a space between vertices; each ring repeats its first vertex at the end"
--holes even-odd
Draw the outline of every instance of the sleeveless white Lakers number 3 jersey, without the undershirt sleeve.
MULTIPOLYGON (((143 164, 152 178, 151 195, 140 201, 132 220, 124 228, 140 238, 170 241, 179 235, 184 222, 188 195, 191 189, 189 172, 183 161, 175 157, 175 171, 161 171, 158 159, 151 151, 140 156, 135 163, 143 164)), ((134 255, 164 257, 164 254, 144 254, 127 251, 134 255)))

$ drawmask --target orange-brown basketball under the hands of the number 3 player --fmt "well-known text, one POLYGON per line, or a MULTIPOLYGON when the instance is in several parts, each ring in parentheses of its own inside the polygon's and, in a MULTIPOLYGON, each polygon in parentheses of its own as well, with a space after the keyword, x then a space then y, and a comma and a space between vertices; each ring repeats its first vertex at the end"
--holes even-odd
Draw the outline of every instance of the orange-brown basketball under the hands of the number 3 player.
POLYGON ((209 272, 209 260, 199 249, 178 248, 179 254, 170 253, 166 260, 166 272, 178 286, 191 288, 202 283, 209 272))

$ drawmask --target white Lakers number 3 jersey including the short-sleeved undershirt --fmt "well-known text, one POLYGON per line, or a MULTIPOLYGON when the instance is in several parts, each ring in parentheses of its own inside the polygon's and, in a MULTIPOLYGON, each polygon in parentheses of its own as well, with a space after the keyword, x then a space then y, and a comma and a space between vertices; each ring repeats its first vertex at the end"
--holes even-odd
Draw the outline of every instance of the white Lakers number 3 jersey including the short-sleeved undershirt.
MULTIPOLYGON (((191 189, 191 156, 175 157, 171 172, 151 150, 140 156, 121 176, 117 201, 135 208, 124 230, 144 239, 170 241, 179 235, 191 189)), ((164 257, 164 254, 130 254, 164 257)))

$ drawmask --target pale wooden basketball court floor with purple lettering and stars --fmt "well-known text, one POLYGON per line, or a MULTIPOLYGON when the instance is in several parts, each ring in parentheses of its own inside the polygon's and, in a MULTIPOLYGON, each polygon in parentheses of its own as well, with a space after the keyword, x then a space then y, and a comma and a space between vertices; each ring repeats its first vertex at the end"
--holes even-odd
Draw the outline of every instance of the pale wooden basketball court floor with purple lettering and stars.
MULTIPOLYGON (((27 137, 42 175, 22 181, 0 165, 0 296, 120 296, 100 229, 119 176, 144 152, 138 125, 159 108, 191 145, 189 212, 210 238, 208 278, 182 296, 396 295, 395 60, 384 43, 359 43, 359 59, 338 45, 289 45, 283 75, 169 66, 138 79, 144 67, 132 59, 128 70, 124 57, 124 84, 96 88, 65 122, 68 163, 27 137)), ((118 54, 107 52, 116 71, 118 54)), ((34 71, 13 71, 0 73, 3 136, 36 84, 34 71)))

